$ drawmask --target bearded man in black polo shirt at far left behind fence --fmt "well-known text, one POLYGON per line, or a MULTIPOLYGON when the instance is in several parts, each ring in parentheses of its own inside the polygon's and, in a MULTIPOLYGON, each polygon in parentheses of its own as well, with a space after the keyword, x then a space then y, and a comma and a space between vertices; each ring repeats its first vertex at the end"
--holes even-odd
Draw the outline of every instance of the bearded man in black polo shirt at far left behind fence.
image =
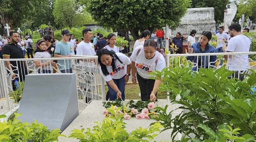
MULTIPOLYGON (((8 42, 3 47, 4 59, 22 59, 22 58, 24 58, 23 51, 22 51, 20 45, 18 45, 18 42, 19 42, 19 34, 15 31, 10 32, 10 42, 8 42)), ((12 71, 12 73, 10 73, 11 78, 12 78, 12 90, 16 90, 14 79, 16 79, 17 81, 25 80, 25 75, 28 74, 27 64, 25 61, 23 62, 23 61, 19 61, 19 60, 18 61, 5 61, 5 64, 8 68, 8 70, 12 71)))

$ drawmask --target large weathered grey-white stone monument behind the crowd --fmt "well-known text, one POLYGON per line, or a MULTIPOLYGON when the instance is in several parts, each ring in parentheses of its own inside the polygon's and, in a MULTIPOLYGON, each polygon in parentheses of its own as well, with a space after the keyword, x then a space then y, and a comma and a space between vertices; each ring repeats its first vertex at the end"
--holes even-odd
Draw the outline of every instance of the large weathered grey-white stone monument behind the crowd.
POLYGON ((196 41, 203 31, 215 32, 214 8, 188 8, 187 13, 181 18, 180 26, 176 30, 169 30, 169 37, 173 38, 178 32, 189 36, 192 30, 196 30, 196 41))

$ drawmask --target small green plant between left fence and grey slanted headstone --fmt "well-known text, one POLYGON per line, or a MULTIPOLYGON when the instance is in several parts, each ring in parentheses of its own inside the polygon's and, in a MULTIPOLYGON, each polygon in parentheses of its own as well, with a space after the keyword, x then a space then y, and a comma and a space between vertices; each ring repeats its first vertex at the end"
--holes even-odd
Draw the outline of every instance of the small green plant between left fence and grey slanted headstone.
POLYGON ((22 97, 22 93, 23 93, 23 88, 24 88, 24 81, 20 82, 18 81, 18 86, 20 86, 19 88, 16 87, 15 91, 10 91, 10 93, 8 94, 9 97, 11 97, 13 99, 14 103, 19 103, 22 97))

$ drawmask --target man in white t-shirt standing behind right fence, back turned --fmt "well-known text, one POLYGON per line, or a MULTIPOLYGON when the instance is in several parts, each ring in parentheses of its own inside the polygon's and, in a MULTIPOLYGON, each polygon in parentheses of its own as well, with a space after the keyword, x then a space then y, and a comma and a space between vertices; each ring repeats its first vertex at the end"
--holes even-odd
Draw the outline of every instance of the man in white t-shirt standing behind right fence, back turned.
MULTIPOLYGON (((228 42, 228 48, 223 45, 224 52, 249 52, 252 42, 248 37, 241 34, 240 24, 234 23, 228 29, 232 38, 228 42)), ((232 76, 242 81, 244 75, 240 72, 244 72, 249 66, 248 55, 229 55, 228 57, 228 70, 236 71, 232 76)))

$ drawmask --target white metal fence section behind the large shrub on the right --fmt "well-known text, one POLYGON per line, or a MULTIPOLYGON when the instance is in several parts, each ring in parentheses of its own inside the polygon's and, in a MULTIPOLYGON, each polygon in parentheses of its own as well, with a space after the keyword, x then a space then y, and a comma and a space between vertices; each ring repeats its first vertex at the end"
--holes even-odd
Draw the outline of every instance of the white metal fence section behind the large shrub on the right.
MULTIPOLYGON (((207 65, 206 68, 213 68, 215 70, 221 66, 225 66, 226 69, 231 71, 250 73, 248 69, 256 70, 256 61, 248 58, 249 55, 256 58, 256 52, 168 54, 166 62, 167 67, 175 67, 175 65, 184 67, 189 65, 195 71, 198 71, 200 67, 205 68, 203 65, 207 65), (211 61, 213 56, 216 56, 216 60, 211 61), (187 57, 193 58, 193 60, 187 60, 187 57)), ((240 78, 241 75, 237 73, 235 77, 240 78)), ((170 101, 169 96, 167 97, 167 101, 170 101)))

